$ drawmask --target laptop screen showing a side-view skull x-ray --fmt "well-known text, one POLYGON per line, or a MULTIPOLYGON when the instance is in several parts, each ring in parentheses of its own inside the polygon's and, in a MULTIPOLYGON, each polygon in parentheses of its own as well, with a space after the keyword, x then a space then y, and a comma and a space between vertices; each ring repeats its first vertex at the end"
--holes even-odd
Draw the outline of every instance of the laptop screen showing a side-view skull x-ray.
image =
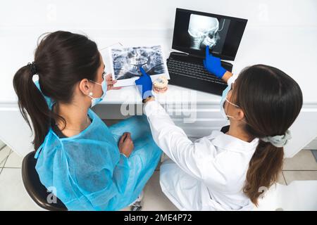
POLYGON ((176 8, 173 49, 204 57, 235 60, 247 20, 176 8))

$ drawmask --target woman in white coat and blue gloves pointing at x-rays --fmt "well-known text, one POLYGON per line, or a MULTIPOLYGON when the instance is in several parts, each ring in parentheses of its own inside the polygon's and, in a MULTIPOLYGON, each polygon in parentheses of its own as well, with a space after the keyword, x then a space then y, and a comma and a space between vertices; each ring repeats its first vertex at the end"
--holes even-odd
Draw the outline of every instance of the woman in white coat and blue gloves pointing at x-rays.
POLYGON ((154 141, 170 158, 161 165, 161 188, 180 210, 251 210, 278 179, 302 91, 285 72, 268 65, 245 68, 236 79, 208 47, 204 66, 228 82, 220 111, 230 127, 194 143, 155 101, 143 70, 136 81, 154 141))

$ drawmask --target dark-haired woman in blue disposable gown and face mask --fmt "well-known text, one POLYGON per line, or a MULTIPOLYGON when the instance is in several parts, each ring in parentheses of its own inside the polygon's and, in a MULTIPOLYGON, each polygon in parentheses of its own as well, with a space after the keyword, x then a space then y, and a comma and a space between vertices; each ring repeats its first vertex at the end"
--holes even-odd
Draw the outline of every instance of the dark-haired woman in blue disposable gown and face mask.
POLYGON ((104 68, 94 41, 58 31, 46 34, 34 62, 13 78, 20 111, 32 122, 39 179, 68 210, 130 205, 161 156, 146 117, 108 128, 90 109, 115 89, 104 68))

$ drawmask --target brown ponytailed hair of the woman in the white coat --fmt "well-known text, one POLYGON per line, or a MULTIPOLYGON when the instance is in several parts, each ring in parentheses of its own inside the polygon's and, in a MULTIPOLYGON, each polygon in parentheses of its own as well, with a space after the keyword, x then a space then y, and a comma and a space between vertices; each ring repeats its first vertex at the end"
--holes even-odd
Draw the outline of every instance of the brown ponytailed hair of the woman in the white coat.
POLYGON ((260 139, 249 162, 243 188, 257 205, 260 188, 269 188, 277 181, 284 156, 283 148, 261 138, 285 134, 302 108, 302 91, 285 72, 268 65, 253 65, 242 70, 232 95, 244 111, 244 130, 260 139))

